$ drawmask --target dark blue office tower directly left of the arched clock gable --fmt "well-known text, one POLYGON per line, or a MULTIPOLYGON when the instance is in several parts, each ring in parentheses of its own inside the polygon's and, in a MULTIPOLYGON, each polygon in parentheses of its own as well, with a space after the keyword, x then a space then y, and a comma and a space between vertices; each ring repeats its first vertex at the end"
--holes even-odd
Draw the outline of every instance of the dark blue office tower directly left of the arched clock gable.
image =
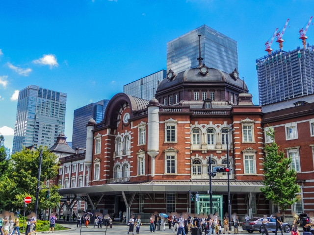
POLYGON ((104 99, 74 110, 71 146, 73 149, 86 147, 86 123, 91 118, 93 118, 96 123, 101 122, 104 119, 108 102, 108 99, 104 99))

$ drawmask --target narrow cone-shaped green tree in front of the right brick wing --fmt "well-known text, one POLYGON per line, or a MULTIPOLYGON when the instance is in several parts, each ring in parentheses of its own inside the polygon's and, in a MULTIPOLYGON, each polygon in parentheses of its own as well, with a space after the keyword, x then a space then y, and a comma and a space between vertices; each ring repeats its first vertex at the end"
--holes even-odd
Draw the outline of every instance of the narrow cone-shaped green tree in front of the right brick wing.
POLYGON ((265 144, 264 160, 264 180, 261 188, 266 199, 277 204, 283 211, 285 221, 285 211, 297 201, 296 193, 300 192, 296 183, 296 171, 290 167, 291 158, 279 151, 279 146, 274 141, 275 131, 271 127, 266 131, 266 135, 273 141, 265 144))

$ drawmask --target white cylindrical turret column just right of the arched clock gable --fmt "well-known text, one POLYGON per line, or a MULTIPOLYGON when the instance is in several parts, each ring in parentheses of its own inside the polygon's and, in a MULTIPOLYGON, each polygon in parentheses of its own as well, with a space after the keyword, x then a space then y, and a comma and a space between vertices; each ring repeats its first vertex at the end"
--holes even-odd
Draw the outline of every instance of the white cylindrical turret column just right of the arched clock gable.
POLYGON ((151 175, 155 176, 155 157, 159 153, 159 103, 153 98, 148 107, 148 136, 147 136, 147 153, 152 158, 151 175))

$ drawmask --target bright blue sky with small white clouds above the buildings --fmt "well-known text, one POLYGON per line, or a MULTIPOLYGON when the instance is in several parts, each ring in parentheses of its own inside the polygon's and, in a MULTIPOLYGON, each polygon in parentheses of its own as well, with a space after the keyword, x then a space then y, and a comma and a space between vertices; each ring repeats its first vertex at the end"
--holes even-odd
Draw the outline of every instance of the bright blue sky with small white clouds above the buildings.
MULTIPOLYGON (((0 131, 12 148, 16 91, 38 85, 67 93, 65 135, 73 111, 110 99, 123 85, 166 69, 166 43, 207 24, 238 43, 239 76, 258 104, 255 59, 290 18, 284 49, 302 46, 310 0, 2 0, 0 131), (12 129, 11 129, 12 128, 12 129)), ((308 42, 314 44, 314 25, 308 42)), ((278 44, 273 43, 273 49, 278 44)))

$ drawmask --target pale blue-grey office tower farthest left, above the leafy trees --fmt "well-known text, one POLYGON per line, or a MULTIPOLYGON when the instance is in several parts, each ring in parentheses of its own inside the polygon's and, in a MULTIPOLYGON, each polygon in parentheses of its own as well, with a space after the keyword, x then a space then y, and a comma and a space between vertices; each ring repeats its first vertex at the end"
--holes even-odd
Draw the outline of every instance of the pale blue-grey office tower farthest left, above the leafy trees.
POLYGON ((12 153, 22 146, 50 148, 64 132, 67 94, 30 85, 19 92, 12 153))

